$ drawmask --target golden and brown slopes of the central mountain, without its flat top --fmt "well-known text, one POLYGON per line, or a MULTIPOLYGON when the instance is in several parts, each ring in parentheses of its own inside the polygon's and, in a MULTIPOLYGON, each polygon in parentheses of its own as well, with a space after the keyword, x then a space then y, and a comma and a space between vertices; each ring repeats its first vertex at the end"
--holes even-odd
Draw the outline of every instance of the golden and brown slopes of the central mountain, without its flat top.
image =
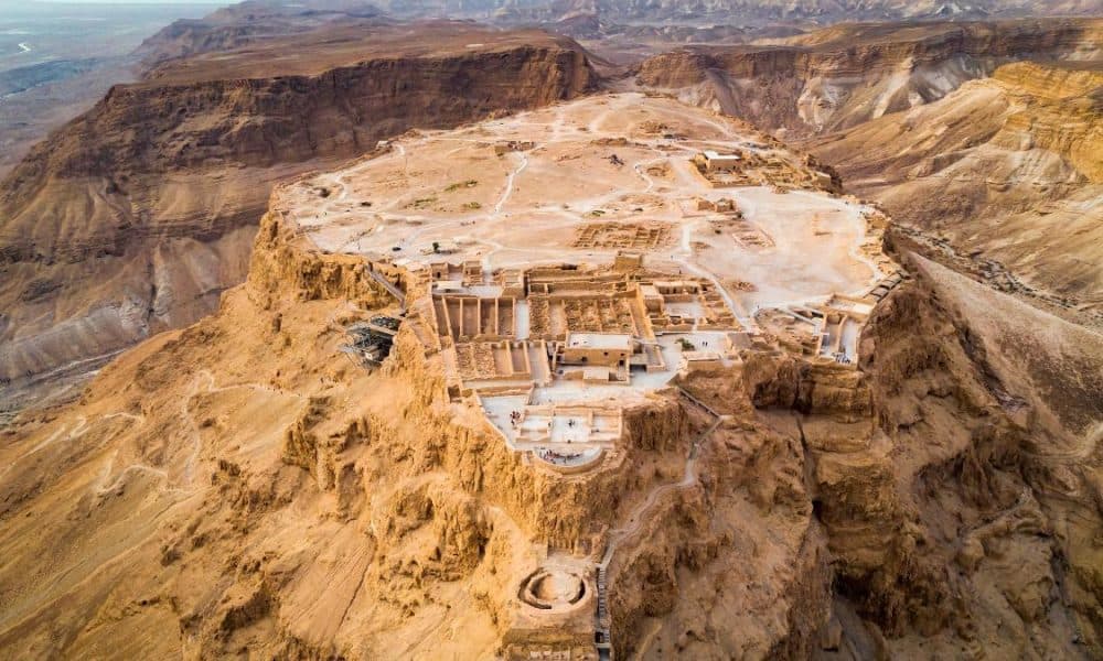
POLYGON ((0 650, 598 659, 591 630, 534 622, 604 608, 618 658, 1103 652, 1100 335, 900 252, 856 368, 757 342, 563 475, 450 393, 429 282, 319 250, 290 219, 317 209, 286 199, 215 314, 6 427, 0 650), (344 328, 394 311, 396 282, 429 305, 370 372, 344 328), (563 570, 613 533, 597 575, 563 570), (585 609, 540 605, 568 597, 585 609))

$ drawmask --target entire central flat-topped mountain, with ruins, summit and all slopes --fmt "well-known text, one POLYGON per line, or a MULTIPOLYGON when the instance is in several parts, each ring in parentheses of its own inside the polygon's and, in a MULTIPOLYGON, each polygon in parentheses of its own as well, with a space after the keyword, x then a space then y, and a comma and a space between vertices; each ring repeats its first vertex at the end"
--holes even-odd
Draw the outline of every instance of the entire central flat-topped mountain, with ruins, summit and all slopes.
POLYGON ((1100 655, 1103 338, 767 142, 593 97, 277 188, 4 427, 0 649, 1100 655))

